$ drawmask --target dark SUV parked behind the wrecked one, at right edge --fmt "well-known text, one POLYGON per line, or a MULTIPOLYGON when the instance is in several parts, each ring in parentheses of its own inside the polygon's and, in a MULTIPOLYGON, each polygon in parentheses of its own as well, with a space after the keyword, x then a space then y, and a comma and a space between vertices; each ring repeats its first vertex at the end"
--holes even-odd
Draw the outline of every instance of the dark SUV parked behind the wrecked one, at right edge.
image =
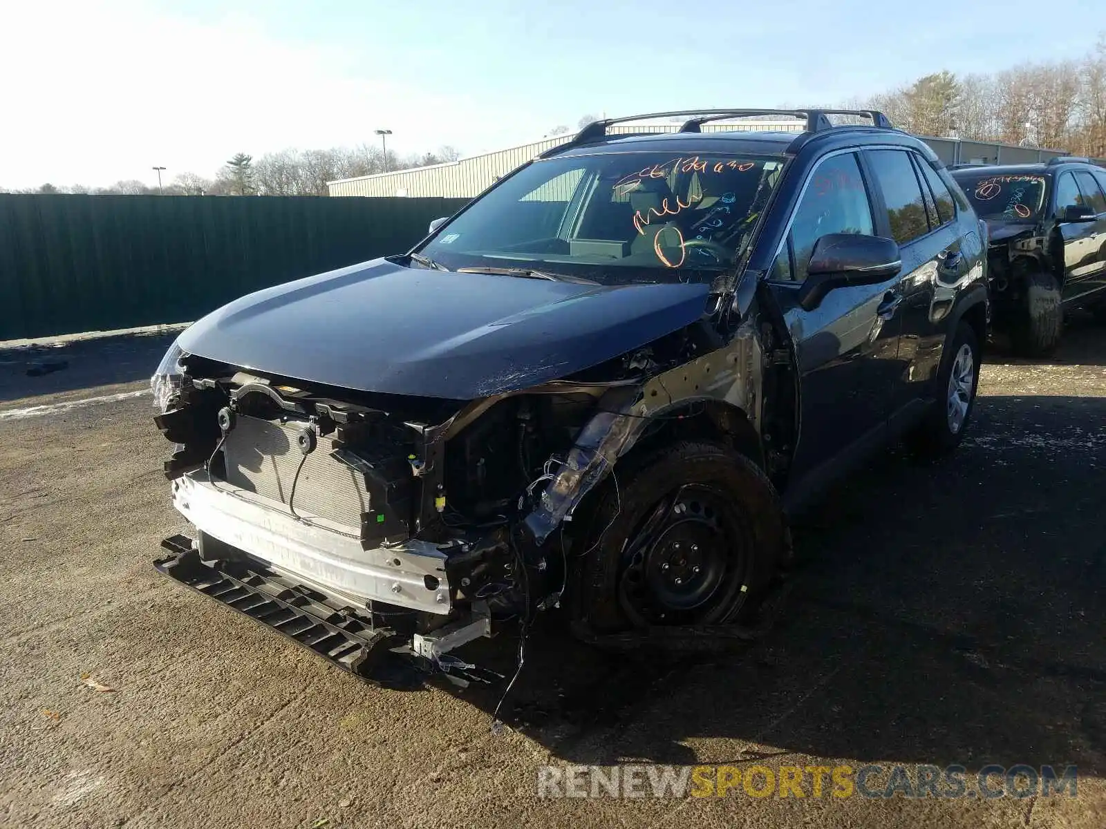
POLYGON ((994 326, 1020 354, 1052 351, 1066 307, 1106 319, 1106 170, 1060 157, 952 176, 990 230, 994 326))

